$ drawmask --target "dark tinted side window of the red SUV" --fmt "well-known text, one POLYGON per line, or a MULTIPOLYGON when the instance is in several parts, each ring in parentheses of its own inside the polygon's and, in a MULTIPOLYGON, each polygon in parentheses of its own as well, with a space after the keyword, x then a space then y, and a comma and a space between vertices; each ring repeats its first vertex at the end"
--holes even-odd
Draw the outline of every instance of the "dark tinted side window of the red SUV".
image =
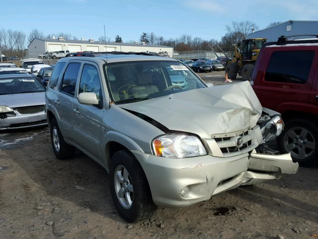
POLYGON ((314 51, 275 51, 265 73, 265 81, 305 84, 315 56, 314 51))

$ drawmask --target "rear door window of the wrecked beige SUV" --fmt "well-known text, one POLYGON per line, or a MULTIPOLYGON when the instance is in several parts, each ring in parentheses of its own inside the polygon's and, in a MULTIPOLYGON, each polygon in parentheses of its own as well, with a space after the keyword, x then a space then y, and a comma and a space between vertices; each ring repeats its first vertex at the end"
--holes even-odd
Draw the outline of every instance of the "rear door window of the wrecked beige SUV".
POLYGON ((65 70, 61 92, 74 96, 76 81, 79 75, 80 63, 70 63, 65 70))

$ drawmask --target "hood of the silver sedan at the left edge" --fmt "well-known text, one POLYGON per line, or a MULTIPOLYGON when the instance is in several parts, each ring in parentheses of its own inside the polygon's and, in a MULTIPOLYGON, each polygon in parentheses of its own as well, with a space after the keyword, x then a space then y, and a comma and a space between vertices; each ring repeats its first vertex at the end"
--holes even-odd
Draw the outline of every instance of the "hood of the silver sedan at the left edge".
POLYGON ((0 95, 0 106, 10 108, 45 105, 45 92, 0 95))

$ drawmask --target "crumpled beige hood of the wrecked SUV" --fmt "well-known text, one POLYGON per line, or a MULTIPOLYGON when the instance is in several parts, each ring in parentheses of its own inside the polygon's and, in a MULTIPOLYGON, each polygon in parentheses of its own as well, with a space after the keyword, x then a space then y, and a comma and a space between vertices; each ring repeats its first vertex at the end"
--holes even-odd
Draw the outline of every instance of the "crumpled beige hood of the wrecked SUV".
POLYGON ((117 106, 144 114, 170 130, 195 133, 201 138, 253 127, 262 113, 248 81, 117 106))

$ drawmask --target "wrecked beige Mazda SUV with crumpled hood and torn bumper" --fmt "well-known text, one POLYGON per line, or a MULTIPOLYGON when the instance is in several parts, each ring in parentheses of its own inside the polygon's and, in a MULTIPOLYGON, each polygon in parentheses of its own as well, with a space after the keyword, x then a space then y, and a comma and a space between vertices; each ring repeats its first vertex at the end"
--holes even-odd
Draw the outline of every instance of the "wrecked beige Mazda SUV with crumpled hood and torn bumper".
POLYGON ((283 130, 248 82, 208 87, 183 63, 143 53, 67 57, 46 91, 55 155, 79 148, 109 173, 119 214, 145 220, 156 205, 182 207, 297 172, 266 145, 283 130), (180 73, 180 74, 179 74, 180 73), (180 75, 187 81, 173 84, 180 75))

